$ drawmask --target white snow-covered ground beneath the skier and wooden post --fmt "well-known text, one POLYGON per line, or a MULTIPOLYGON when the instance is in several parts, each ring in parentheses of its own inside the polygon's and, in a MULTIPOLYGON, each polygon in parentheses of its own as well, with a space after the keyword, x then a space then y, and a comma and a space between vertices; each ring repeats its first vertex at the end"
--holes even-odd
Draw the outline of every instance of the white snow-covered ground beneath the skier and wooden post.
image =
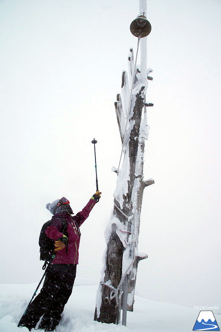
MULTIPOLYGON (((18 328, 17 323, 37 285, 38 282, 0 285, 0 332, 28 332, 26 327, 18 328)), ((127 327, 121 322, 119 325, 102 324, 93 320, 97 288, 96 281, 76 278, 56 332, 189 332, 200 311, 135 296, 134 312, 127 313, 127 327)), ((220 327, 221 310, 213 310, 213 313, 220 327)))

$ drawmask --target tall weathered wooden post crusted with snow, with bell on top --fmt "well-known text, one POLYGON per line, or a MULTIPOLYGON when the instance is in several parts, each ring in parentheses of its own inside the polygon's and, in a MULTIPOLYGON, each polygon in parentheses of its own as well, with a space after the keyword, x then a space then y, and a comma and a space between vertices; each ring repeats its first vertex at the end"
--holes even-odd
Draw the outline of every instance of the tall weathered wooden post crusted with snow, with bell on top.
POLYGON ((148 79, 152 79, 149 76, 152 70, 147 70, 143 59, 147 56, 146 41, 141 46, 141 66, 137 65, 140 40, 146 39, 151 31, 144 15, 145 4, 145 0, 140 0, 141 15, 130 27, 132 34, 138 37, 136 60, 130 49, 129 75, 123 72, 121 95, 117 95, 115 103, 123 163, 120 167, 120 160, 118 168, 112 168, 117 173, 117 186, 114 208, 105 230, 107 248, 94 315, 97 321, 118 324, 123 297, 123 325, 126 325, 125 311, 133 311, 138 262, 147 258, 147 254, 138 251, 140 213, 144 188, 154 183, 153 179, 143 180, 144 145, 149 133, 146 107, 153 106, 145 102, 148 79))

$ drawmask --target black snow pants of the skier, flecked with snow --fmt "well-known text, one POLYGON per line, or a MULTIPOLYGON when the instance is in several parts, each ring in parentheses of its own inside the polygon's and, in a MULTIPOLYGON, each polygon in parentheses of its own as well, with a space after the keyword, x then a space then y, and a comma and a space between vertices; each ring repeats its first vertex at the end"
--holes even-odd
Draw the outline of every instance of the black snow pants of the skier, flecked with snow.
POLYGON ((31 330, 36 327, 40 317, 44 315, 39 329, 54 331, 60 321, 60 314, 64 310, 64 305, 71 295, 75 277, 75 264, 49 266, 40 293, 31 302, 18 326, 25 326, 31 330))

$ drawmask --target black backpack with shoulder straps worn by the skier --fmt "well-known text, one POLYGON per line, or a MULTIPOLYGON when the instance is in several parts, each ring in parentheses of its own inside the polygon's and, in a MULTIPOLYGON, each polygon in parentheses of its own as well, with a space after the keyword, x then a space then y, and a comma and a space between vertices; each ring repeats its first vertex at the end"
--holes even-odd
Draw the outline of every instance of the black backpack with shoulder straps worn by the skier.
MULTIPOLYGON (((61 220, 62 225, 61 225, 61 230, 60 232, 63 233, 68 237, 67 234, 67 222, 65 218, 58 218, 61 220)), ((41 261, 46 261, 49 262, 52 257, 52 253, 54 252, 55 249, 55 241, 50 239, 46 234, 45 230, 47 227, 49 227, 52 224, 53 220, 49 220, 44 225, 42 226, 40 236, 39 236, 39 246, 40 246, 40 260, 41 261)), ((67 252, 67 245, 66 245, 66 252, 67 252)))

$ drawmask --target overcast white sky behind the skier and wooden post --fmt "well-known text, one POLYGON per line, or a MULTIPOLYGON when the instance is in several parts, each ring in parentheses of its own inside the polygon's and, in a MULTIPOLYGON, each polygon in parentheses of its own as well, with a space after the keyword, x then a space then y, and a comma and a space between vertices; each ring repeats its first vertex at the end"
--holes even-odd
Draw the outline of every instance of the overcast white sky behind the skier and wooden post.
MULTIPOLYGON (((193 307, 220 298, 220 40, 218 0, 147 1, 150 135, 136 291, 193 307)), ((45 205, 66 196, 81 226, 78 277, 100 279, 121 140, 114 102, 137 38, 139 1, 0 0, 0 283, 43 274, 45 205)))

